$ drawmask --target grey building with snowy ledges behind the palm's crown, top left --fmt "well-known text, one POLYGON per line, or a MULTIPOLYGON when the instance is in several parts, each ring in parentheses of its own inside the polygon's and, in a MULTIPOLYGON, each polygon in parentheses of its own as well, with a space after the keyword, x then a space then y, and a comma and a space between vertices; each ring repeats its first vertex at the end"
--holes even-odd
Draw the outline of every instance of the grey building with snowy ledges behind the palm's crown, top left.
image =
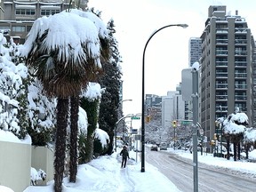
MULTIPOLYGON (((76 7, 78 1, 73 1, 76 7)), ((43 16, 53 15, 68 9, 69 0, 3 0, 0 3, 0 31, 6 38, 14 37, 20 44, 25 42, 34 21, 43 16)), ((80 1, 85 8, 88 0, 80 1)))

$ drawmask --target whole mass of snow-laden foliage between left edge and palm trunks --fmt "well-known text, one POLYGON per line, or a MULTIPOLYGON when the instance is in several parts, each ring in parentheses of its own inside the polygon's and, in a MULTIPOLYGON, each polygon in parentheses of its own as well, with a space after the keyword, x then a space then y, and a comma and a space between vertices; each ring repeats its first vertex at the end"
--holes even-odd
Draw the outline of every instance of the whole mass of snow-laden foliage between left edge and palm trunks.
POLYGON ((48 99, 41 84, 20 63, 19 47, 7 43, 0 33, 0 129, 13 132, 20 139, 30 134, 34 145, 52 141, 55 104, 48 99))

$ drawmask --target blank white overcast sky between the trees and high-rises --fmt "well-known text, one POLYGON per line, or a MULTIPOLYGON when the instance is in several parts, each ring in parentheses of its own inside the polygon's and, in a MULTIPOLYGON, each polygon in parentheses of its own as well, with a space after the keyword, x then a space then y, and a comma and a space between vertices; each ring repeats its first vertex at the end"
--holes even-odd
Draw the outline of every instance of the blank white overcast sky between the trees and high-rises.
POLYGON ((113 18, 123 57, 124 115, 140 113, 142 54, 148 37, 158 28, 186 23, 188 28, 164 28, 154 36, 145 54, 145 93, 164 96, 181 82, 188 68, 188 40, 200 37, 210 5, 226 5, 227 12, 241 15, 256 36, 255 0, 89 0, 104 21, 113 18))

